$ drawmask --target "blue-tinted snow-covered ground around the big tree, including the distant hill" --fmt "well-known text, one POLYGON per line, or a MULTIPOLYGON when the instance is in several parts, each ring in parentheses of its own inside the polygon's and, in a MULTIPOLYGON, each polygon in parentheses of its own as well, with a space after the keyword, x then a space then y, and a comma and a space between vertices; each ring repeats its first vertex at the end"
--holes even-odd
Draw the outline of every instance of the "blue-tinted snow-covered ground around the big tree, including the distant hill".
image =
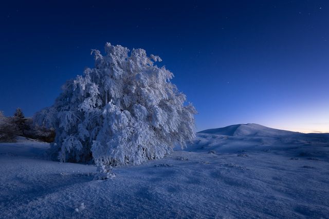
POLYGON ((256 124, 197 133, 140 166, 48 161, 46 143, 0 144, 0 218, 329 218, 329 134, 256 124))

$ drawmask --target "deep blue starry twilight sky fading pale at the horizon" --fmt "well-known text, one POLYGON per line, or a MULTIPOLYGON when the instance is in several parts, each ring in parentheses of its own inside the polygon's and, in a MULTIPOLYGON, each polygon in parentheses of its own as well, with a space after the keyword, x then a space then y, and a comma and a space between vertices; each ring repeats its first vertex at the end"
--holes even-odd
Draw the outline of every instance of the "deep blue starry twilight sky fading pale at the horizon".
POLYGON ((105 42, 157 54, 198 110, 238 123, 329 132, 328 1, 13 2, 0 7, 0 110, 27 116, 93 67, 105 42))

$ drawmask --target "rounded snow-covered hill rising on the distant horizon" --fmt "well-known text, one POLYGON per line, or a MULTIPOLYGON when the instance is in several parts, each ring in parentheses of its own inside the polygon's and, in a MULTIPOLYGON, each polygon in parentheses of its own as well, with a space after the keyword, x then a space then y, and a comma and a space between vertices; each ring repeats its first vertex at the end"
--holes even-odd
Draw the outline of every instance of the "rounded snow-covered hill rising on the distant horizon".
POLYGON ((273 129, 266 126, 248 123, 226 126, 223 128, 207 129, 198 133, 220 134, 228 136, 285 136, 292 134, 300 134, 299 132, 286 131, 281 129, 273 129))

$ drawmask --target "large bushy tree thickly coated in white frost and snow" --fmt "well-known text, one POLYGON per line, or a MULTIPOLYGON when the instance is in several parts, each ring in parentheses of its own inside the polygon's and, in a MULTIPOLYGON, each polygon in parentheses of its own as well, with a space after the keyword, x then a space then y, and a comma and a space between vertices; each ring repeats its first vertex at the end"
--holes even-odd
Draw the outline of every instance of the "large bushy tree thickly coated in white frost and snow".
POLYGON ((95 67, 67 81, 53 106, 36 113, 56 130, 52 151, 60 161, 94 160, 102 169, 162 158, 194 138, 194 114, 173 74, 143 49, 105 45, 92 50, 95 67))

